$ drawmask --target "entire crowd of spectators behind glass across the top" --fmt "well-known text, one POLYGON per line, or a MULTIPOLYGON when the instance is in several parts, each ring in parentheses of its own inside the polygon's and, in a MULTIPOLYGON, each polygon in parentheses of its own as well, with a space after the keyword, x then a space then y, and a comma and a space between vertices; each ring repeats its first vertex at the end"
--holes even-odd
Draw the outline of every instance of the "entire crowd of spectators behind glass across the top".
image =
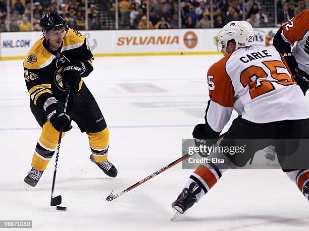
MULTIPOLYGON (((274 1, 274 0, 269 0, 274 1)), ((306 0, 276 0, 277 22, 283 24, 306 9, 306 0)), ((34 0, 32 28, 40 31, 40 17, 45 12, 59 11, 68 21, 70 28, 85 29, 85 0, 34 0)), ((115 0, 104 0, 115 19, 115 0)), ((253 27, 278 26, 269 21, 260 0, 149 0, 149 22, 147 23, 146 0, 119 0, 120 29, 176 29, 176 28, 221 28, 233 20, 249 22, 253 27), (213 21, 211 11, 213 10, 213 21), (179 12, 180 11, 180 12, 179 12), (180 18, 179 18, 180 16, 180 18)), ((0 0, 0 32, 30 31, 30 0, 10 0, 9 17, 7 0, 0 0), (8 20, 9 18, 9 20, 8 20)), ((99 12, 94 4, 88 4, 88 29, 100 30, 99 12)))

